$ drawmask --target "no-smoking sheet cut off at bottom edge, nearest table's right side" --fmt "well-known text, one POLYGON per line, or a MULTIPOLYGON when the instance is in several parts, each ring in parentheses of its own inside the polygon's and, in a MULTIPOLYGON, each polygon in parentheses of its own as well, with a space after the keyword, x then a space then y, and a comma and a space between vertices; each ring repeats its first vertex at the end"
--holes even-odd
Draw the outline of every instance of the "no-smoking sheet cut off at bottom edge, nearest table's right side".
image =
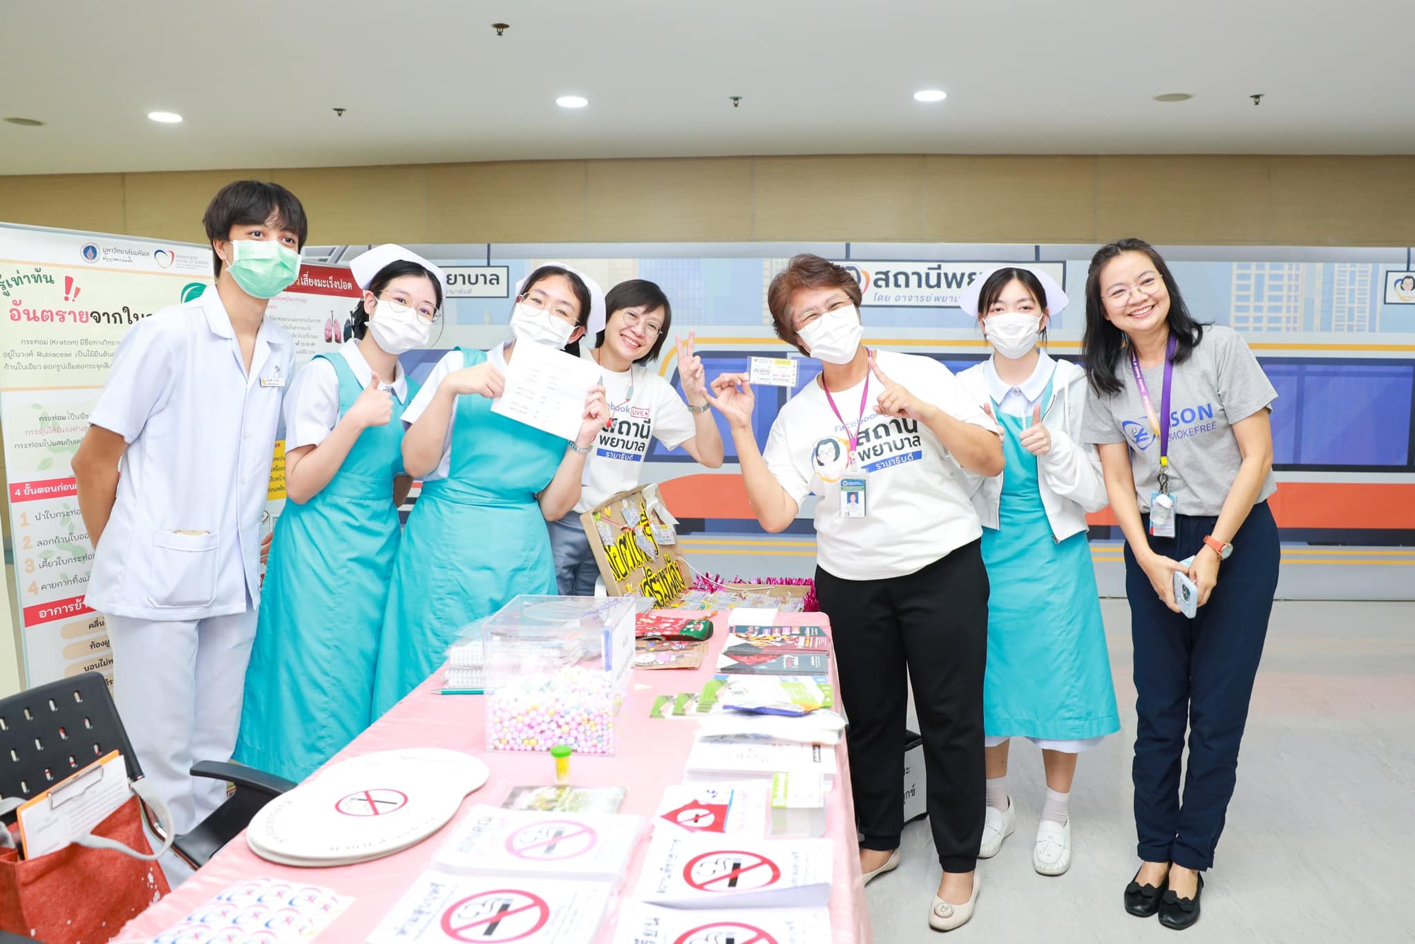
POLYGON ((828 909, 665 909, 625 902, 614 944, 826 944, 828 909))

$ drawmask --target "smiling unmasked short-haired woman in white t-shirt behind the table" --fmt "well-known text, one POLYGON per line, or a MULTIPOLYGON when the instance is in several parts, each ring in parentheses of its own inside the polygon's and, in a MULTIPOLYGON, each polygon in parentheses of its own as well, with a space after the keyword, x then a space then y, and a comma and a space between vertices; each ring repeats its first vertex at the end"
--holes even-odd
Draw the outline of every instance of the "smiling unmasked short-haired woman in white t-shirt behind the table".
POLYGON ((708 405, 702 359, 693 354, 693 334, 679 343, 678 374, 685 405, 672 385, 649 369, 668 337, 674 310, 668 296, 645 279, 621 282, 604 296, 608 320, 590 357, 603 368, 610 420, 584 457, 580 501, 550 522, 555 579, 563 596, 594 596, 599 565, 580 515, 606 498, 638 487, 649 436, 683 450, 708 468, 722 466, 722 434, 708 405))

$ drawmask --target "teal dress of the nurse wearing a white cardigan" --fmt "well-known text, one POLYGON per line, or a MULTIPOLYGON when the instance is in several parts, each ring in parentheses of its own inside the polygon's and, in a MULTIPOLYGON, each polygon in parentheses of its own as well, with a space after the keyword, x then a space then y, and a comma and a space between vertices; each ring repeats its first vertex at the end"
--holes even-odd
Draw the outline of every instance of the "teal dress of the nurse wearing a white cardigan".
MULTIPOLYGON (((1053 378, 1054 379, 1054 378, 1053 378)), ((1041 412, 1051 402, 1051 381, 1041 412)), ((1085 532, 1056 541, 1037 481, 1037 457, 1022 447, 1030 418, 992 412, 1003 427, 999 528, 983 528, 988 568, 989 737, 1075 742, 1121 729, 1105 651, 1101 600, 1085 532)))

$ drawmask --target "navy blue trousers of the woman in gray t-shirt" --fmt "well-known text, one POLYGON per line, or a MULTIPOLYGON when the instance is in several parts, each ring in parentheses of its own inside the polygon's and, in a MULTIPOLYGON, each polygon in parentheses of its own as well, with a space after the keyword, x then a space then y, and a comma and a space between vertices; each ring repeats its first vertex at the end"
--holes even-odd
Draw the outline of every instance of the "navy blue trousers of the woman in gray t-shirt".
MULTIPOLYGON (((1204 545, 1217 518, 1179 515, 1173 538, 1149 538, 1156 553, 1183 560, 1204 545)), ((1149 522, 1146 521, 1146 531, 1149 522)), ((1193 620, 1155 594, 1125 548, 1125 594, 1135 644, 1135 831, 1139 856, 1207 869, 1224 831, 1238 777, 1238 744, 1278 589, 1278 526, 1258 502, 1234 535, 1234 552, 1193 620), (1180 801, 1180 761, 1189 764, 1180 801)))

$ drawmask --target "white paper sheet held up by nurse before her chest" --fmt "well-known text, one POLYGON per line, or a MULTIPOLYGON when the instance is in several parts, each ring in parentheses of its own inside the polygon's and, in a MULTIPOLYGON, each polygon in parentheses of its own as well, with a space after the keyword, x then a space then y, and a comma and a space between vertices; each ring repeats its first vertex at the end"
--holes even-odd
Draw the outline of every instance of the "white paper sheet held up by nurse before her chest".
POLYGON ((507 364, 507 386, 491 401, 491 412, 560 439, 574 439, 584 416, 584 398, 600 382, 600 365, 565 351, 516 341, 507 364))

